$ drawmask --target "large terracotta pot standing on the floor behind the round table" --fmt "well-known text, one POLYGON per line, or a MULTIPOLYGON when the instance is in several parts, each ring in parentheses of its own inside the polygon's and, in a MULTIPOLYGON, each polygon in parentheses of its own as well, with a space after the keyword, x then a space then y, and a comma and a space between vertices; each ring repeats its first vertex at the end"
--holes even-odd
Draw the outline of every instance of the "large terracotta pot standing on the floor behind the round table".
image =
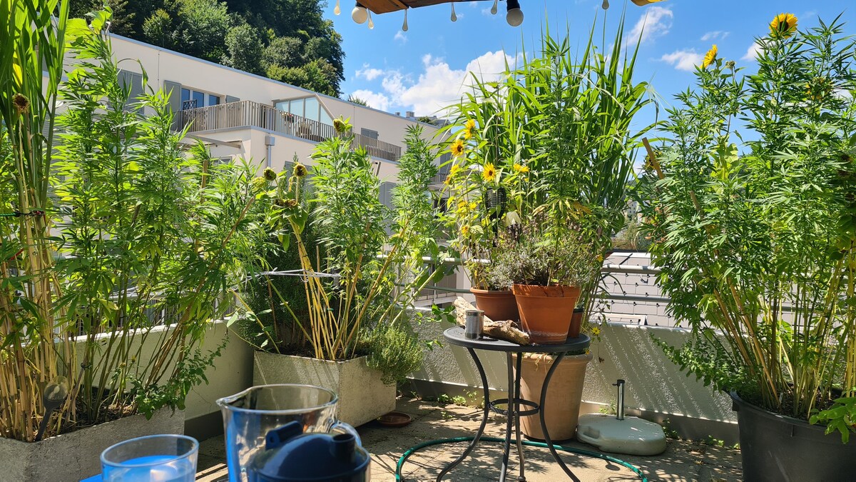
MULTIPOLYGON (((553 360, 552 356, 541 353, 523 355, 523 363, 520 366, 520 396, 523 399, 539 403, 544 377, 553 365, 553 360)), ((586 365, 589 361, 591 353, 568 355, 562 358, 562 364, 550 378, 550 388, 547 389, 547 400, 544 403, 544 423, 554 443, 574 438, 577 433, 577 419, 580 417, 583 383, 586 382, 586 365)), ((515 358, 515 369, 516 362, 515 358)), ((523 431, 526 437, 544 440, 538 414, 521 417, 520 431, 523 431)))

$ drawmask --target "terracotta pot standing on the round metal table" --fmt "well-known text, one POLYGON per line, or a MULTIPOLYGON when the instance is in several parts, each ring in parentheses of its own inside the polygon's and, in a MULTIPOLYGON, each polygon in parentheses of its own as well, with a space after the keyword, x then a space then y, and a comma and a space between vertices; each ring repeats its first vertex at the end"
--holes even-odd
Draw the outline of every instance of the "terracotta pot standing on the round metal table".
MULTIPOLYGON (((568 339, 580 286, 514 285, 520 323, 533 343, 563 343, 568 339)), ((577 334, 580 329, 577 328, 577 334)))

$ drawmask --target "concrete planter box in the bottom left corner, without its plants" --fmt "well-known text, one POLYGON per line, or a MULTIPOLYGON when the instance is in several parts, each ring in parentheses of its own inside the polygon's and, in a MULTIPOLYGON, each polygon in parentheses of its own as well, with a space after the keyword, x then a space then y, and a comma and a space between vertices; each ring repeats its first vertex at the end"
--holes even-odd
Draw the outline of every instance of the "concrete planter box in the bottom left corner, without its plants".
POLYGON ((134 415, 41 442, 0 438, 0 480, 78 482, 101 473, 101 452, 114 443, 161 433, 184 433, 184 413, 160 410, 146 420, 134 415))

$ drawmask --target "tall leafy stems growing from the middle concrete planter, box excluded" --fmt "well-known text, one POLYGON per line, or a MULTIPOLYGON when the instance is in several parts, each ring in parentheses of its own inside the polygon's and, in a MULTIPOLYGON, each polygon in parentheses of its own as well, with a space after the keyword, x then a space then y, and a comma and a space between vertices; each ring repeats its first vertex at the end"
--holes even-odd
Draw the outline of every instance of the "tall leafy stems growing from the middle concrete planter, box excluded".
POLYGON ((425 262, 443 257, 429 190, 437 174, 434 150, 418 127, 408 130, 390 209, 379 197, 377 166, 364 148, 353 148, 350 125, 342 118, 334 124, 337 135, 318 144, 311 167, 295 160, 291 172, 270 172, 266 196, 270 231, 283 249, 296 246, 298 255, 298 266, 277 268, 304 281, 307 309, 293 309, 287 298, 294 297, 283 296, 263 277, 262 289, 271 291, 270 306, 254 312, 241 303, 246 310, 231 320, 241 321, 240 332, 249 334, 247 339, 259 349, 301 353, 299 345, 285 346, 283 340, 285 327, 293 327, 313 358, 367 355, 368 365, 394 383, 418 369, 423 357, 425 346, 409 331, 419 317, 414 299, 446 274, 445 268, 425 262), (309 228, 315 249, 304 236, 309 228), (288 311, 287 320, 261 316, 278 307, 288 311), (389 350, 390 343, 395 351, 389 350))

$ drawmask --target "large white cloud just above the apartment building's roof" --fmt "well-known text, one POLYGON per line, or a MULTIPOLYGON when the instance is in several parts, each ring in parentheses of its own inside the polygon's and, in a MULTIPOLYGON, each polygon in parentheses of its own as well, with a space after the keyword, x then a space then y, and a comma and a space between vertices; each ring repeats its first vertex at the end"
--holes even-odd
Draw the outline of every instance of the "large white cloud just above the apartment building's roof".
POLYGON ((382 92, 361 90, 354 95, 381 110, 397 106, 401 110, 415 111, 417 116, 443 114, 443 108, 461 99, 471 85, 473 74, 484 81, 496 81, 505 71, 505 63, 514 64, 514 61, 513 56, 503 51, 489 51, 474 58, 463 69, 453 69, 443 58, 428 54, 422 57, 419 75, 388 70, 381 80, 382 92))

